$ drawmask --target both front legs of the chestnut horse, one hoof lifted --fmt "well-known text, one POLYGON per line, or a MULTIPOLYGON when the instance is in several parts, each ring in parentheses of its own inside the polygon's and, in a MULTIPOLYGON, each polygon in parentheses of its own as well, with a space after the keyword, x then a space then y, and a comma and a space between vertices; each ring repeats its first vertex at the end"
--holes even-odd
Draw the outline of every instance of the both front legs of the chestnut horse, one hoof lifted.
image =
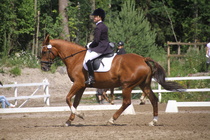
POLYGON ((66 121, 66 126, 70 126, 71 122, 75 119, 75 115, 77 115, 79 118, 84 119, 84 115, 77 111, 77 106, 79 105, 79 102, 81 100, 81 97, 83 95, 83 92, 85 90, 85 87, 78 88, 76 86, 72 86, 70 92, 66 96, 66 102, 70 107, 71 114, 69 119, 66 121), (74 103, 72 104, 71 99, 75 95, 74 103))

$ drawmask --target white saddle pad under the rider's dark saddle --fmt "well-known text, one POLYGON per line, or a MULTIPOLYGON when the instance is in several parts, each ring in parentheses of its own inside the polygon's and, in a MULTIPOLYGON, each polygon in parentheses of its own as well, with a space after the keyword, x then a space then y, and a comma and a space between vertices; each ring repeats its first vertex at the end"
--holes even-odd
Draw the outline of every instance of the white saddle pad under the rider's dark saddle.
MULTIPOLYGON (((112 57, 105 57, 102 59, 102 63, 100 63, 100 66, 97 70, 94 70, 94 72, 107 72, 111 69, 111 66, 112 66, 112 61, 114 59, 114 57, 116 56, 116 53, 114 53, 114 55, 112 57)), ((85 64, 85 59, 83 61, 83 67, 85 68, 85 70, 88 70, 87 69, 87 66, 85 64)))

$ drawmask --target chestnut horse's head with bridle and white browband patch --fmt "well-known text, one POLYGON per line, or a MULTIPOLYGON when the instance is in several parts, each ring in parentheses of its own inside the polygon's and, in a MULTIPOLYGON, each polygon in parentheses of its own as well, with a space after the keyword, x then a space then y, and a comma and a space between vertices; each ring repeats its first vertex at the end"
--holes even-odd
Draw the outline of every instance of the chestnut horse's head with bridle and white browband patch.
POLYGON ((50 44, 49 35, 45 38, 42 43, 42 53, 41 53, 41 69, 43 71, 49 71, 53 60, 57 56, 56 49, 50 44))

